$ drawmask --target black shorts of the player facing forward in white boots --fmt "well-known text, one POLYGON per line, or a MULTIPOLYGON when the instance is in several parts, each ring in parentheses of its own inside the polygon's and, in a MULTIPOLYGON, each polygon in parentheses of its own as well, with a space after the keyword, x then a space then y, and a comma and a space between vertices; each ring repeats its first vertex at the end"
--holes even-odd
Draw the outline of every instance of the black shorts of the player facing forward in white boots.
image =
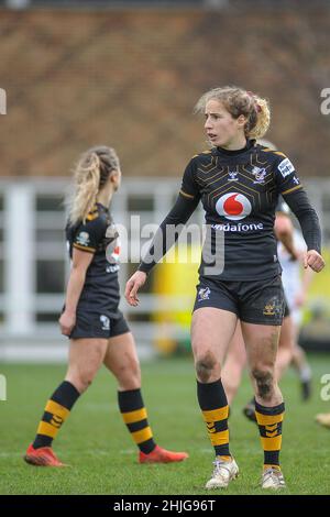
POLYGON ((280 276, 253 282, 200 277, 194 310, 202 307, 229 310, 246 323, 280 326, 285 308, 280 276))

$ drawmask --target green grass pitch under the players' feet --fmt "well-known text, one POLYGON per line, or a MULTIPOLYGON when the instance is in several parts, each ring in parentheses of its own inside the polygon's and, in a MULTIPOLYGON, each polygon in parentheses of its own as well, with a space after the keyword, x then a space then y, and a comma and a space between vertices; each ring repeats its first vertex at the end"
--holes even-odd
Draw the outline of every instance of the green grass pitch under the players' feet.
MULTIPOLYGON (((330 411, 320 398, 320 377, 330 358, 310 358, 314 394, 300 402, 296 374, 282 381, 286 402, 282 464, 288 488, 282 494, 330 494, 330 429, 314 417, 330 411)), ((54 450, 67 469, 33 468, 22 460, 45 402, 65 374, 64 365, 6 365, 8 400, 0 402, 0 494, 197 495, 212 471, 212 449, 196 398, 191 359, 142 364, 143 395, 156 441, 189 459, 179 464, 139 465, 138 453, 117 406, 114 380, 103 369, 64 424, 54 450)), ((240 476, 221 494, 264 494, 258 488, 263 453, 257 428, 241 408, 251 397, 244 377, 231 408, 231 451, 240 476)), ((211 494, 216 495, 217 492, 211 494)))

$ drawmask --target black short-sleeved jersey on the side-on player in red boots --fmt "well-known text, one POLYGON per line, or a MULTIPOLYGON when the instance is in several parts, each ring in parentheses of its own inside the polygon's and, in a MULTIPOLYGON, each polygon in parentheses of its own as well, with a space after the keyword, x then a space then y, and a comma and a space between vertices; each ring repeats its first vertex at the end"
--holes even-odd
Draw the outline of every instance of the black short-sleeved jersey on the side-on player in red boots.
POLYGON ((120 300, 118 282, 120 244, 109 210, 97 204, 85 223, 66 226, 66 238, 70 258, 74 248, 94 253, 86 272, 78 308, 114 315, 120 300))

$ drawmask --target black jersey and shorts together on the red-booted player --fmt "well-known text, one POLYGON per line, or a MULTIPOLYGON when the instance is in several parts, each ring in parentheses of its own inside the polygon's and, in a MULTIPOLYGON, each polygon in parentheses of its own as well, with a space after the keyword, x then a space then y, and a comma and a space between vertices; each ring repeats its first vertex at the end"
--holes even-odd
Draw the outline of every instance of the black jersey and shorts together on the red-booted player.
POLYGON ((70 258, 73 250, 92 253, 77 306, 70 338, 112 338, 129 331, 119 310, 119 234, 106 207, 97 204, 85 223, 66 227, 70 258))

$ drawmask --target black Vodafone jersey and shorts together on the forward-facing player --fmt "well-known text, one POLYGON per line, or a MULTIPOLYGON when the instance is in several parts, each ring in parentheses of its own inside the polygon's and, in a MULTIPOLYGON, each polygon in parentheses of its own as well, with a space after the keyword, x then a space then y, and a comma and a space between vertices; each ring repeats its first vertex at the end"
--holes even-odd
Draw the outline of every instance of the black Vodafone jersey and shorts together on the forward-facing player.
POLYGON ((195 309, 223 308, 243 321, 280 324, 284 297, 274 234, 279 195, 298 218, 308 250, 319 252, 318 217, 292 162, 283 153, 251 140, 242 150, 215 147, 194 156, 186 167, 178 199, 139 268, 151 271, 173 244, 164 238, 166 227, 186 223, 201 201, 212 254, 223 253, 223 267, 212 273, 202 256, 195 309), (222 235, 222 250, 217 249, 218 233, 222 235), (155 250, 161 250, 160 256, 155 250))

